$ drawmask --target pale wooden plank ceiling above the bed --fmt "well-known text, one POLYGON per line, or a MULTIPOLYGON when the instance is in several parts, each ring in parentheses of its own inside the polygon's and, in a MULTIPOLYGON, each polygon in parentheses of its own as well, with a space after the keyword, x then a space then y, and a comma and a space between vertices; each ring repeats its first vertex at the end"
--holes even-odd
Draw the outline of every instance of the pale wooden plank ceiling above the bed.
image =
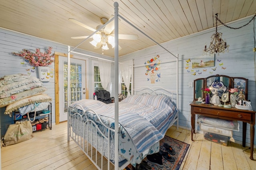
MULTIPOLYGON (((96 29, 100 18, 114 14, 114 2, 118 2, 121 16, 158 43, 214 27, 216 13, 228 23, 253 16, 256 9, 256 0, 0 0, 0 27, 74 47, 82 39, 71 37, 93 32, 68 18, 96 29)), ((155 45, 123 20, 119 34, 138 35, 138 40, 119 40, 120 56, 155 45)), ((91 40, 79 48, 102 53, 91 40)), ((114 50, 108 46, 103 53, 113 57, 114 50)))

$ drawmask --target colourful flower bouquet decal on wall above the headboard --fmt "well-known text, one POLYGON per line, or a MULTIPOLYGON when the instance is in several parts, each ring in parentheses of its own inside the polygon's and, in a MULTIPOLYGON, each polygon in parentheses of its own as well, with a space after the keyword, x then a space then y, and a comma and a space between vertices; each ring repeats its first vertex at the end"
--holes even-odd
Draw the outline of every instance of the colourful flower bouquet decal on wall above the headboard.
POLYGON ((155 82, 160 81, 161 73, 157 73, 160 67, 161 60, 159 59, 159 55, 156 55, 155 57, 151 58, 150 60, 146 61, 144 64, 146 64, 146 76, 150 76, 148 78, 148 81, 150 81, 151 84, 154 84, 155 82))

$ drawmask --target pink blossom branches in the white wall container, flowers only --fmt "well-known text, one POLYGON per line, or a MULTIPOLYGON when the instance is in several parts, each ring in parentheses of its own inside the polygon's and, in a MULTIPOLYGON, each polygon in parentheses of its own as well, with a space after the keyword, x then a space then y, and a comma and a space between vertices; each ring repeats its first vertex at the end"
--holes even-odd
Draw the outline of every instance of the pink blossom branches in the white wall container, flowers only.
POLYGON ((48 47, 47 53, 42 53, 39 48, 36 48, 36 53, 32 53, 27 49, 22 49, 20 53, 14 53, 14 55, 18 55, 23 57, 28 63, 34 66, 48 66, 52 62, 54 62, 54 54, 50 55, 52 52, 52 47, 48 47))

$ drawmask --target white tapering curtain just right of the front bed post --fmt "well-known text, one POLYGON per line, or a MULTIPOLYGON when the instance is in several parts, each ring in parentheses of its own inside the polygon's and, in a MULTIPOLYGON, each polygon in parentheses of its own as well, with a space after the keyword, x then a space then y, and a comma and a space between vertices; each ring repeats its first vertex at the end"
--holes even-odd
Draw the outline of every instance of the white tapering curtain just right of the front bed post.
POLYGON ((126 86, 127 96, 130 96, 130 79, 132 76, 132 61, 125 61, 120 63, 120 70, 126 86))

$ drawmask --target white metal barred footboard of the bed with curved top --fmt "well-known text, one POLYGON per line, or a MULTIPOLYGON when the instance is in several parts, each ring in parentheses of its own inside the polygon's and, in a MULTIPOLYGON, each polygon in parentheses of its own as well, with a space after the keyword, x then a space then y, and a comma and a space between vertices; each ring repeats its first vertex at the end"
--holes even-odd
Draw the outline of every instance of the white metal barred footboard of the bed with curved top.
MULTIPOLYGON (((79 105, 76 108, 80 107, 79 105)), ((93 112, 90 110, 90 112, 93 112)), ((96 113, 95 113, 96 114, 96 113)), ((72 113, 68 111, 68 138, 72 138, 86 156, 98 169, 110 169, 110 132, 114 129, 106 127, 108 130, 105 135, 98 125, 88 119, 86 111, 83 113, 72 113)), ((100 120, 100 118, 98 117, 100 120)), ((104 123, 102 123, 104 125, 104 123)))

